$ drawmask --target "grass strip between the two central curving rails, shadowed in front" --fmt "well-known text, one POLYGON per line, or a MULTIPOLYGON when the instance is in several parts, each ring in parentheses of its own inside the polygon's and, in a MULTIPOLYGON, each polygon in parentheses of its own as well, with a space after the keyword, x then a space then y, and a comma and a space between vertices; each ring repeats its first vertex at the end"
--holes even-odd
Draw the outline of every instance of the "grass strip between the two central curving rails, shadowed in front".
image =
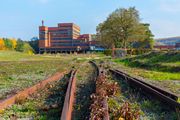
POLYGON ((90 116, 90 95, 95 92, 95 72, 95 68, 87 62, 83 62, 78 69, 76 101, 73 110, 74 120, 87 120, 90 116))

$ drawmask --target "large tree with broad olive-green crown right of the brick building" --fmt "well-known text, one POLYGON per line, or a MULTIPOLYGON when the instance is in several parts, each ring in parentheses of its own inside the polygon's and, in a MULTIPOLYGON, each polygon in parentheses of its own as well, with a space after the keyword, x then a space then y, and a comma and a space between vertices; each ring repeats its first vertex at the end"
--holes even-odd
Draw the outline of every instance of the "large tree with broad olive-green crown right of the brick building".
POLYGON ((126 49, 148 37, 147 26, 140 23, 139 12, 134 7, 115 10, 97 26, 97 38, 107 48, 115 46, 126 49))

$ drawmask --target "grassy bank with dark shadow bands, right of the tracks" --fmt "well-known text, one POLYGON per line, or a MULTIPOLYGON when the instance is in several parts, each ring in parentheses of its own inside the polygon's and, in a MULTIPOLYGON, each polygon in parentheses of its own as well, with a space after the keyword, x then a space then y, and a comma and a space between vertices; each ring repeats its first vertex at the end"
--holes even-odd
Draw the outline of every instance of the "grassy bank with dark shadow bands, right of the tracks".
POLYGON ((152 52, 135 57, 115 59, 130 73, 152 80, 180 80, 180 52, 152 52))

